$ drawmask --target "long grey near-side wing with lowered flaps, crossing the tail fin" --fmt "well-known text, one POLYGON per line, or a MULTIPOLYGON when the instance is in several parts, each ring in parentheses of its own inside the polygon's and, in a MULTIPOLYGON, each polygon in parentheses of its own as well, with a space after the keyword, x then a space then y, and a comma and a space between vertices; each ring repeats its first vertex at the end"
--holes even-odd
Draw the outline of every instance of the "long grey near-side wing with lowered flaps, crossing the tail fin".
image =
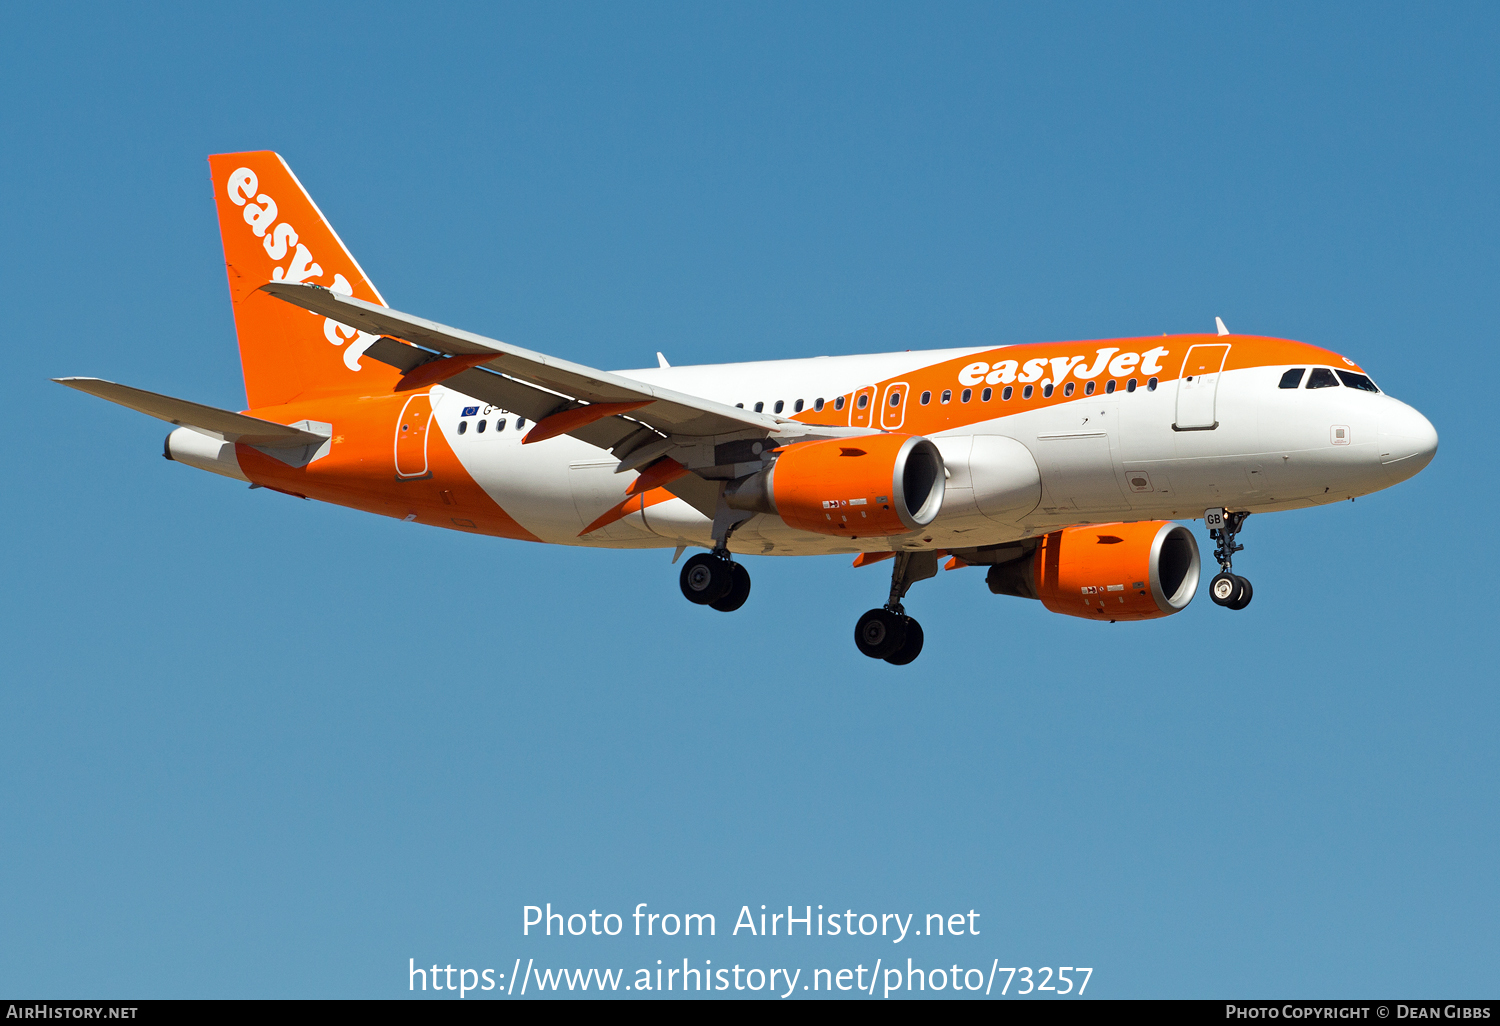
MULTIPOLYGON (((662 386, 646 384, 608 370, 596 370, 579 363, 570 363, 543 352, 532 352, 518 345, 488 339, 472 332, 447 327, 411 314, 402 314, 387 306, 376 306, 350 296, 339 296, 320 285, 268 282, 261 286, 276 298, 300 306, 314 314, 330 316, 370 334, 404 339, 435 352, 468 358, 471 368, 476 357, 490 356, 478 366, 446 378, 456 390, 476 399, 494 402, 496 406, 519 412, 532 420, 598 404, 645 404, 628 411, 634 424, 600 424, 594 422, 580 429, 567 430, 596 446, 614 447, 646 424, 660 435, 693 438, 738 435, 772 435, 782 430, 804 432, 806 424, 770 414, 758 414, 738 406, 729 406, 711 399, 690 396, 662 386), (489 378, 496 378, 488 381, 489 378), (614 436, 610 441, 609 438, 614 436)), ((420 363, 420 357, 400 352, 399 344, 388 339, 376 342, 366 354, 382 363, 390 363, 405 372, 420 363), (408 364, 408 366, 404 366, 408 364)), ((402 346, 408 348, 410 346, 402 346)), ((620 420, 621 417, 610 417, 620 420)), ((650 441, 650 440, 642 440, 650 441)))

